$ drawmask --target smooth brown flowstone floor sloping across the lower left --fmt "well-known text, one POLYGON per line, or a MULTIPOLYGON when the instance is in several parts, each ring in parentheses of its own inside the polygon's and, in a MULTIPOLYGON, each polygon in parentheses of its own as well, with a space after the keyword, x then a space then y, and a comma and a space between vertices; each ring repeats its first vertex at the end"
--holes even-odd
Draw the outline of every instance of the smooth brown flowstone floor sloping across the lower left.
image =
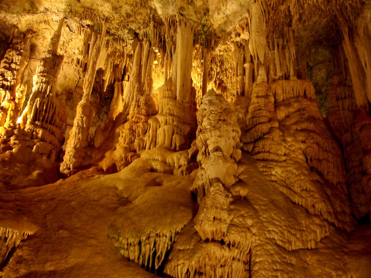
MULTIPOLYGON (((155 173, 140 160, 115 174, 92 168, 43 186, 1 186, 0 226, 30 234, 2 277, 157 277, 120 254, 114 227, 135 238, 179 230, 193 221, 198 205, 190 186, 197 171, 188 176, 155 173)), ((260 179, 255 166, 250 168, 250 179, 260 179)), ((348 236, 354 267, 367 268, 370 242, 369 226, 348 236)))

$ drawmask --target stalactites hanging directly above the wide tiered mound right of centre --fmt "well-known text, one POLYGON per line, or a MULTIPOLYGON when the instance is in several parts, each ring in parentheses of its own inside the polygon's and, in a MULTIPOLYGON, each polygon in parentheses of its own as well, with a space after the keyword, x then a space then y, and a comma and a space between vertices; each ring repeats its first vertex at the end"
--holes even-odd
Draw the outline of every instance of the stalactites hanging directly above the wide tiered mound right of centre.
MULTIPOLYGON (((305 51, 296 50, 295 29, 285 27, 278 37, 267 33, 267 5, 270 4, 265 0, 253 1, 247 17, 237 24, 232 34, 236 96, 251 98, 252 84, 258 76, 260 81, 269 84, 280 79, 307 78, 305 51)), ((295 7, 295 4, 290 7, 293 17, 295 7)))

